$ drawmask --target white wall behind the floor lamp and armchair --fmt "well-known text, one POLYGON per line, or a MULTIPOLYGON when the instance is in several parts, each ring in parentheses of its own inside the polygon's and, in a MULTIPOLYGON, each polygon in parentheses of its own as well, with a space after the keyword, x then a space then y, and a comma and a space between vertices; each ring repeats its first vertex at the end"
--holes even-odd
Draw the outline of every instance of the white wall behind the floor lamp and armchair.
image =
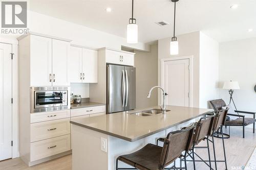
MULTIPOLYGON (((224 81, 238 81, 233 100, 238 110, 256 111, 256 38, 220 43, 220 98, 229 102, 228 90, 221 89, 224 81)), ((248 116, 248 115, 247 115, 248 116)))

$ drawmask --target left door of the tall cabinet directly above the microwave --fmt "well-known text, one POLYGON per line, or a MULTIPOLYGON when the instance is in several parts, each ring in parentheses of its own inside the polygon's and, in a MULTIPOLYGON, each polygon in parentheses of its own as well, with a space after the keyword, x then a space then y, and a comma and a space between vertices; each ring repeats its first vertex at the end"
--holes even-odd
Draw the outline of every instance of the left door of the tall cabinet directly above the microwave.
POLYGON ((30 85, 51 86, 52 39, 36 35, 30 35, 30 37, 30 85))

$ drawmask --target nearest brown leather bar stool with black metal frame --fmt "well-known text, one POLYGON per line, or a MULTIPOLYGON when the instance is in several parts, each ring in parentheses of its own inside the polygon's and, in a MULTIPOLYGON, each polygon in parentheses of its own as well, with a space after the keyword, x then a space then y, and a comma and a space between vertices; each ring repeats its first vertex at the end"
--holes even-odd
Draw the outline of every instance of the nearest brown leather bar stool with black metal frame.
POLYGON ((127 155, 119 156, 116 159, 116 170, 118 169, 141 169, 141 170, 162 170, 162 169, 187 169, 186 155, 188 147, 193 140, 193 133, 196 124, 183 130, 168 133, 164 139, 163 147, 148 143, 142 149, 127 155), (185 151, 183 155, 182 152, 185 151), (166 167, 177 158, 184 158, 185 167, 166 167), (118 167, 118 160, 133 166, 134 168, 118 167))

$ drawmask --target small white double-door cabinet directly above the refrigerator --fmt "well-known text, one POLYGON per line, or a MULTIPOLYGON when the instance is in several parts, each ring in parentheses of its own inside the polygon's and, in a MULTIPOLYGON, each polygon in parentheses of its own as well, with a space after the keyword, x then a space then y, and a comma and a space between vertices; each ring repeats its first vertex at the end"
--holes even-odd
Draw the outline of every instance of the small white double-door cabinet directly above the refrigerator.
POLYGON ((106 49, 106 63, 134 66, 134 54, 106 49))

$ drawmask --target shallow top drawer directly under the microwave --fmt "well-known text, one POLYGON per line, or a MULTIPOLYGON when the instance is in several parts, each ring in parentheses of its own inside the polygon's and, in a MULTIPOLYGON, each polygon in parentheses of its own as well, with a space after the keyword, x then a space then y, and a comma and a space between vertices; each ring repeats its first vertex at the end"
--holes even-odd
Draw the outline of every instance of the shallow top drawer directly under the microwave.
POLYGON ((70 110, 31 113, 30 114, 30 123, 44 122, 44 121, 48 121, 48 120, 55 120, 55 119, 68 118, 68 117, 70 117, 70 110))

